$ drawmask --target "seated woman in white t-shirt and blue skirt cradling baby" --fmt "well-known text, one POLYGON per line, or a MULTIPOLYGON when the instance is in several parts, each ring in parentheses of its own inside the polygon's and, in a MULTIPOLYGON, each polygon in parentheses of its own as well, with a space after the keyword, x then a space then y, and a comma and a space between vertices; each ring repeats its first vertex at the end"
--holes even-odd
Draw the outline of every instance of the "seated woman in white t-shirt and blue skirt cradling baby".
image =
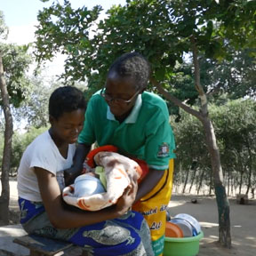
POLYGON ((62 200, 63 170, 73 164, 85 108, 83 92, 75 87, 52 92, 51 127, 28 145, 20 161, 20 223, 28 234, 83 246, 90 255, 154 255, 147 223, 140 213, 129 211, 137 192, 133 180, 115 205, 97 212, 81 211, 62 200))

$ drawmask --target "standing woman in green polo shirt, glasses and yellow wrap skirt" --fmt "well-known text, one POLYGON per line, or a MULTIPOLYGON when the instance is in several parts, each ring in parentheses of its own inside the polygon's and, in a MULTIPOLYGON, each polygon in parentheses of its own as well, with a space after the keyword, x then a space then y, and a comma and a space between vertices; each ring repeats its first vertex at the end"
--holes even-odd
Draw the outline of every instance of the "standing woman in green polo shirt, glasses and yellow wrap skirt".
POLYGON ((133 210, 148 221, 155 255, 162 255, 175 143, 166 103, 146 92, 149 76, 148 60, 137 52, 125 53, 112 64, 104 88, 89 100, 75 165, 66 174, 72 180, 80 172, 94 142, 145 161, 149 171, 139 184, 133 210))

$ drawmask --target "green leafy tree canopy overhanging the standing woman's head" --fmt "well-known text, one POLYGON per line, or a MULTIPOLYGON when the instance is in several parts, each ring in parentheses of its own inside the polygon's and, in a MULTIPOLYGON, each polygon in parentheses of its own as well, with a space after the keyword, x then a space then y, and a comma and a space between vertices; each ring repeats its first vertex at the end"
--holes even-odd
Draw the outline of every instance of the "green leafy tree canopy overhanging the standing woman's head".
MULTIPOLYGON (((252 67, 252 71, 248 71, 246 76, 253 78, 255 4, 253 1, 242 0, 217 2, 127 1, 123 7, 112 6, 107 12, 108 16, 99 20, 102 12, 100 6, 95 6, 92 10, 85 6, 74 10, 68 1, 64 1, 63 5, 53 1, 51 7, 44 8, 37 16, 39 25, 36 29, 36 58, 38 61, 51 60, 56 52, 66 54, 65 73, 62 77, 72 81, 88 79, 89 88, 94 92, 104 84, 108 67, 117 56, 137 51, 148 57, 156 79, 169 92, 180 96, 184 92, 180 92, 175 87, 176 84, 171 84, 170 81, 172 76, 177 77, 177 62, 188 61, 193 37, 204 60, 214 64, 216 70, 219 67, 217 74, 220 69, 227 71, 228 68, 239 65, 238 60, 241 61, 241 58, 238 55, 241 57, 241 54, 245 54, 241 50, 251 49, 246 53, 246 60, 247 67, 252 67), (221 60, 226 62, 220 62, 221 60), (229 63, 230 60, 232 64, 229 63)), ((222 91, 227 91, 230 84, 233 84, 228 83, 227 86, 224 82, 211 82, 211 87, 221 87, 222 91)), ((231 86, 230 90, 235 91, 237 83, 242 82, 241 79, 236 79, 236 86, 231 86)), ((247 83, 246 88, 247 90, 240 90, 236 97, 255 92, 253 84, 247 83)), ((188 97, 193 99, 194 96, 187 95, 187 99, 188 97)), ((185 100, 180 100, 182 99, 185 100)))

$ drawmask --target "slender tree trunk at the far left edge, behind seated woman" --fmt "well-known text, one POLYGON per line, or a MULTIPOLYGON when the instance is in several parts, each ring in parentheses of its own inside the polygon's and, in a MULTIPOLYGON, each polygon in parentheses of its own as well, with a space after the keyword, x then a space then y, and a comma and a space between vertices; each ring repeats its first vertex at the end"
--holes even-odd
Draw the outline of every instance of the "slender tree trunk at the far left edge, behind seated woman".
POLYGON ((4 109, 4 152, 2 161, 2 193, 0 196, 0 220, 4 223, 9 221, 9 199, 10 199, 10 186, 9 186, 9 170, 11 162, 12 151, 12 112, 9 102, 9 94, 4 79, 4 67, 2 60, 2 52, 0 52, 0 90, 2 97, 2 108, 4 109))

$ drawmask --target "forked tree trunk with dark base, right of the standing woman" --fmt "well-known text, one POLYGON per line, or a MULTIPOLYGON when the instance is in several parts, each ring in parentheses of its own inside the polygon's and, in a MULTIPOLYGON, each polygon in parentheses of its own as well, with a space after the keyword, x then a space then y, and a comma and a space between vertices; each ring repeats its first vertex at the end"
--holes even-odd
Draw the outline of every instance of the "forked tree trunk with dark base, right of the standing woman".
POLYGON ((200 67, 198 61, 198 53, 196 40, 194 36, 190 37, 191 44, 193 48, 193 63, 195 68, 195 87, 198 92, 198 97, 201 101, 200 111, 190 108, 185 103, 181 102, 171 93, 166 92, 161 84, 157 83, 152 77, 151 82, 156 85, 157 90, 164 95, 168 100, 171 100, 176 106, 184 109, 189 114, 196 116, 203 126, 205 132, 206 145, 209 150, 212 164, 212 174, 215 188, 216 201, 218 205, 219 212, 219 241, 224 247, 231 247, 231 233, 230 233, 230 216, 229 216, 229 203, 228 196, 226 194, 225 187, 223 185, 223 172, 220 164, 220 152, 217 147, 217 142, 215 138, 215 132, 212 126, 211 119, 208 117, 208 107, 207 107, 207 97, 204 93, 204 89, 200 83, 200 67))

